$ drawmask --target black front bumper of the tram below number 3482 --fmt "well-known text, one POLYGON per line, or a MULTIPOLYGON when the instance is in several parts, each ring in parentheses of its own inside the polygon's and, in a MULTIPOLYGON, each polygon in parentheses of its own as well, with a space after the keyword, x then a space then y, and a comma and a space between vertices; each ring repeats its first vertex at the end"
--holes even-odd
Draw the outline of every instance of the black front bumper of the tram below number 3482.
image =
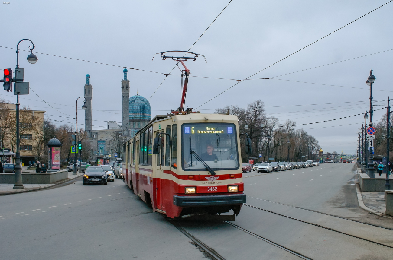
POLYGON ((245 194, 211 196, 173 196, 173 204, 179 207, 200 207, 214 205, 235 205, 246 203, 245 194))

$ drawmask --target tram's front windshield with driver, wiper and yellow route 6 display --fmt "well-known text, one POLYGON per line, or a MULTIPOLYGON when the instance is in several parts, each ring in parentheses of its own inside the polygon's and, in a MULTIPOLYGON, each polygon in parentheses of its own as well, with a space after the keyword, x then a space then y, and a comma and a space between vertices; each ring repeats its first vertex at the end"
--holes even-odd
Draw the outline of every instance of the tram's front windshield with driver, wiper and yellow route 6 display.
POLYGON ((185 171, 205 171, 204 163, 215 171, 239 168, 234 124, 183 124, 181 131, 182 168, 185 171))

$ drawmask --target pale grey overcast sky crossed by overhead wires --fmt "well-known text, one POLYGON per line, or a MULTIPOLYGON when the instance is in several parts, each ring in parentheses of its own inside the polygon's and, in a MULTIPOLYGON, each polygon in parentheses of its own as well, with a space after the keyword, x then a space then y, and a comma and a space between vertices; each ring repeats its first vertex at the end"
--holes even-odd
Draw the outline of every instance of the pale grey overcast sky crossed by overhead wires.
MULTIPOLYGON (((55 124, 75 124, 72 119, 75 100, 83 96, 85 75, 89 73, 94 89, 93 129, 105 129, 106 121, 121 124, 123 68, 39 53, 169 73, 175 62, 162 60, 160 56, 152 61, 154 53, 188 50, 228 2, 11 0, 10 4, 0 5, 3 29, 0 65, 12 69, 16 66, 15 50, 4 47, 16 48, 23 38, 34 42, 39 58, 36 64, 29 64, 28 53, 20 51, 24 79, 40 98, 57 110, 32 91, 28 96, 21 96, 20 103, 46 110, 51 120, 63 121, 52 121, 55 124)), ((191 49, 206 56, 208 63, 202 57, 185 63, 193 76, 244 79, 386 2, 233 0, 191 49)), ((307 124, 351 116, 369 110, 370 93, 365 81, 373 68, 375 109, 386 107, 387 97, 393 92, 393 51, 387 51, 393 49, 392 13, 393 2, 252 78, 270 78, 386 52, 275 79, 245 80, 206 104, 237 81, 190 77, 186 106, 198 107, 202 113, 214 113, 216 108, 226 105, 247 107, 253 100, 261 99, 267 115, 276 116, 281 123, 292 119, 297 124, 307 124)), ((24 41, 19 47, 27 50, 28 46, 29 42, 24 41)), ((176 75, 168 76, 151 97, 165 76, 129 69, 130 96, 138 90, 141 96, 150 98, 152 116, 166 115, 180 106, 179 73, 176 67, 172 71, 176 75)), ((12 94, 1 92, 0 96, 15 103, 12 94)), ((78 107, 81 107, 83 102, 79 100, 78 107)), ((84 128, 84 111, 78 113, 82 119, 80 126, 84 128)), ((374 122, 384 113, 386 109, 375 111, 374 122)), ((348 154, 356 153, 356 131, 362 123, 363 115, 359 115, 303 128, 317 138, 323 151, 343 149, 348 154)))

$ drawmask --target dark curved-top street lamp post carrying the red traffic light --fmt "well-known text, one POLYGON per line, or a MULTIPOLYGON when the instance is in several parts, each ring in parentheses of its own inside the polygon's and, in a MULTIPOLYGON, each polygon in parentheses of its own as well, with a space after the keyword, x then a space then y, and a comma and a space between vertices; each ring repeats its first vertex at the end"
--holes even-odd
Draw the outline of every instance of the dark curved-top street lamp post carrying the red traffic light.
MULTIPOLYGON (((17 45, 17 69, 19 69, 19 44, 20 42, 28 40, 33 44, 33 42, 29 39, 22 39, 18 42, 17 45)), ((33 49, 35 48, 33 44, 33 48, 31 48, 31 45, 29 46, 29 50, 31 53, 27 56, 27 61, 30 64, 35 64, 38 60, 37 56, 33 54, 33 49)), ((24 189, 23 182, 22 182, 22 167, 20 166, 20 136, 19 136, 19 95, 17 94, 17 108, 16 108, 16 117, 17 117, 17 155, 16 155, 16 160, 15 160, 15 184, 14 184, 14 189, 24 189)))

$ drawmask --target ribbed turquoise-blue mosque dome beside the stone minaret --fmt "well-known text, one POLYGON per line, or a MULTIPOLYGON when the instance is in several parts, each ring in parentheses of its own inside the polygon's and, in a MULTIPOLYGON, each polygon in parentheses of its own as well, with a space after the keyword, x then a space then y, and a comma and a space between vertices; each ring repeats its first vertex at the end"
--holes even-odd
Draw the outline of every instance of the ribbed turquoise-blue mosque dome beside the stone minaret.
POLYGON ((129 117, 130 122, 149 122, 151 120, 151 107, 149 101, 136 94, 129 98, 129 117))

